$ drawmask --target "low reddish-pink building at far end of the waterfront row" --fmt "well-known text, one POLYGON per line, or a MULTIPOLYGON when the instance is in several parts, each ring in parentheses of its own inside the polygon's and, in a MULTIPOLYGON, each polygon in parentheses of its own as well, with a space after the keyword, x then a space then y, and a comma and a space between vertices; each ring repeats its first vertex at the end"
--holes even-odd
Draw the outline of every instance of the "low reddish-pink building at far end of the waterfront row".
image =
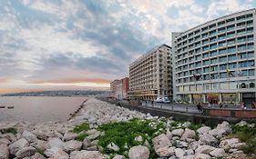
POLYGON ((125 77, 110 83, 110 95, 117 99, 126 99, 128 97, 129 79, 125 77))

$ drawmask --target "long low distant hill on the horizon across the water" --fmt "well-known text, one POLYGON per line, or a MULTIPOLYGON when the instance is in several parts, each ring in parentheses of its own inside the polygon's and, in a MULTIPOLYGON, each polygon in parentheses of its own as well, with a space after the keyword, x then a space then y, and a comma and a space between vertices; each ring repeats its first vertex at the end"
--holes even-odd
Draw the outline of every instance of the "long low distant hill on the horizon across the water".
POLYGON ((78 90, 66 90, 66 91, 41 91, 41 92, 26 92, 15 94, 2 94, 2 96, 101 96, 108 94, 108 91, 78 91, 78 90))

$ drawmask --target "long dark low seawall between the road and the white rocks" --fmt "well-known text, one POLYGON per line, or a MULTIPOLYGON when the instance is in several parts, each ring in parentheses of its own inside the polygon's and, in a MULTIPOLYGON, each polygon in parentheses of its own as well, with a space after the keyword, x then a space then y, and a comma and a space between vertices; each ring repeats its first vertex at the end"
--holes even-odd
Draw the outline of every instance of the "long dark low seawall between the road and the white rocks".
POLYGON ((165 116, 165 117, 172 116, 175 120, 189 121, 196 124, 216 125, 216 124, 220 124, 223 121, 228 121, 231 124, 236 124, 240 122, 241 119, 245 121, 256 120, 251 118, 221 117, 221 116, 210 116, 210 115, 204 115, 204 114, 192 114, 192 113, 171 111, 167 109, 159 109, 159 108, 146 107, 146 106, 131 106, 129 104, 118 103, 118 101, 111 101, 106 98, 98 98, 98 99, 111 104, 118 104, 119 106, 128 108, 130 110, 137 110, 139 112, 146 113, 146 114, 149 113, 151 115, 159 115, 159 116, 165 116))

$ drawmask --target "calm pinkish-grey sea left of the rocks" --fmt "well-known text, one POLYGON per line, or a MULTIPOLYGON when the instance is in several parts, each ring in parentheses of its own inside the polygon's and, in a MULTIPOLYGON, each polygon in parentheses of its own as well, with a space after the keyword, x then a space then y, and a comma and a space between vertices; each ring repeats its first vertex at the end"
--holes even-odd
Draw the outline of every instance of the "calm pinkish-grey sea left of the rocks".
POLYGON ((86 99, 66 96, 0 96, 0 123, 67 121, 70 114, 86 99))

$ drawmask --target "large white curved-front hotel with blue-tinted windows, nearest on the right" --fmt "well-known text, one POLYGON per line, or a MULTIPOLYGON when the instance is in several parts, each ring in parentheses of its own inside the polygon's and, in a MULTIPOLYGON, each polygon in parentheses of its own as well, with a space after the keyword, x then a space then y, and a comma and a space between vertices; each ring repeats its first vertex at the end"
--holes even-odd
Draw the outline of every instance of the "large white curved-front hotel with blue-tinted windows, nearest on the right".
POLYGON ((172 33, 174 100, 255 101, 255 9, 172 33))

